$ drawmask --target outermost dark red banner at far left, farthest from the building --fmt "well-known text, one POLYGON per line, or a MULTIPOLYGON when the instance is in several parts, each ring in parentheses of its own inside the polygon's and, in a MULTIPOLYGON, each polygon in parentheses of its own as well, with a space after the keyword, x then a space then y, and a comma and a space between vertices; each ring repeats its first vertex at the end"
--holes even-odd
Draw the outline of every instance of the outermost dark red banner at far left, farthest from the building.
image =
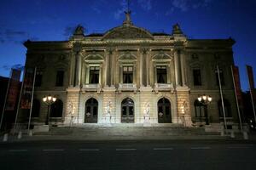
POLYGON ((6 99, 5 111, 15 111, 15 104, 19 95, 20 70, 12 69, 9 79, 9 91, 6 99))

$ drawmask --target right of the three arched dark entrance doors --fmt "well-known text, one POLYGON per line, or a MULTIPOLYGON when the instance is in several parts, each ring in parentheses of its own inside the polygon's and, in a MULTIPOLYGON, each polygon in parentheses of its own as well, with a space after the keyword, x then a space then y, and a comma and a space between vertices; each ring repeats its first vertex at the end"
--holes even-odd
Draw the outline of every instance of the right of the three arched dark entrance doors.
POLYGON ((157 103, 158 108, 158 122, 170 123, 172 122, 171 103, 168 99, 162 98, 157 103))

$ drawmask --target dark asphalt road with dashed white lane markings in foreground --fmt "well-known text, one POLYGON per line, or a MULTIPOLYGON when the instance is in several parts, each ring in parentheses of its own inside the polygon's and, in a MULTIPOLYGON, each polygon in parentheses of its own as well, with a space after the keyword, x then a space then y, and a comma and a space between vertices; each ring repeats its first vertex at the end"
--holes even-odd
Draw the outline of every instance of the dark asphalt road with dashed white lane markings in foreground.
POLYGON ((0 144, 1 170, 256 169, 243 141, 33 141, 0 144))

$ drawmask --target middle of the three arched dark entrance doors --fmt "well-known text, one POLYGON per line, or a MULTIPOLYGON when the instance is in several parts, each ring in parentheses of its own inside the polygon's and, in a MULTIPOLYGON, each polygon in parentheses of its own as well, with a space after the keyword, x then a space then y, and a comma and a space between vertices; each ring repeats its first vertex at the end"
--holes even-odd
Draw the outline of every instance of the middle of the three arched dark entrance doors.
POLYGON ((134 122, 134 102, 132 99, 126 98, 122 101, 121 111, 121 122, 134 122))

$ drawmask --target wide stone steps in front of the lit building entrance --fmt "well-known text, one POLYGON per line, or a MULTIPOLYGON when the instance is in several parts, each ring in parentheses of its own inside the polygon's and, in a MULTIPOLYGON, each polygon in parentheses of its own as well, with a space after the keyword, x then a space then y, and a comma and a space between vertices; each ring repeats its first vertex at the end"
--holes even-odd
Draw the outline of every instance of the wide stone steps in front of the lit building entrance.
POLYGON ((178 136, 219 135, 207 133, 204 127, 50 127, 49 135, 72 136, 178 136))

